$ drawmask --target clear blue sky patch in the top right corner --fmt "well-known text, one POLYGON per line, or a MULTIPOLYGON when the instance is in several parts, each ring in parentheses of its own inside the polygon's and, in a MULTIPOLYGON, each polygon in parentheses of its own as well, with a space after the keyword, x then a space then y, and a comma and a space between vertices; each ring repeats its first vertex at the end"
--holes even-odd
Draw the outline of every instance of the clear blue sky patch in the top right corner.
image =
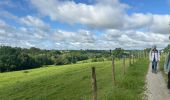
POLYGON ((170 14, 170 2, 168 0, 121 0, 133 8, 130 13, 155 13, 170 14))

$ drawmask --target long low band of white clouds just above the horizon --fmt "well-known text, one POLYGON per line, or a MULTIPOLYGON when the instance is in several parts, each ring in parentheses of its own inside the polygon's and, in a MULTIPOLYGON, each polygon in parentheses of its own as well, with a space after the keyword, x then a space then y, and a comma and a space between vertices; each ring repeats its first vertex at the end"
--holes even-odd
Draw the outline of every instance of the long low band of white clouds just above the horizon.
POLYGON ((45 49, 142 49, 156 44, 159 48, 165 47, 169 40, 168 34, 141 32, 135 30, 106 30, 101 35, 95 35, 88 30, 75 32, 56 30, 46 33, 42 30, 30 30, 25 27, 16 29, 0 28, 0 44, 45 49))

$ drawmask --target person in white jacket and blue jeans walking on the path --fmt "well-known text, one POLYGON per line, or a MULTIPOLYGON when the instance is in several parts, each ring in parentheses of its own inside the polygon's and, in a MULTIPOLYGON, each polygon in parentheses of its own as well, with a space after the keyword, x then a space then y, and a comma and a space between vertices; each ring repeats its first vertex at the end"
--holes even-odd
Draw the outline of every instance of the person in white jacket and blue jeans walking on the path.
POLYGON ((156 49, 156 46, 153 46, 149 53, 149 59, 152 62, 152 72, 157 73, 157 62, 160 61, 159 51, 156 49))

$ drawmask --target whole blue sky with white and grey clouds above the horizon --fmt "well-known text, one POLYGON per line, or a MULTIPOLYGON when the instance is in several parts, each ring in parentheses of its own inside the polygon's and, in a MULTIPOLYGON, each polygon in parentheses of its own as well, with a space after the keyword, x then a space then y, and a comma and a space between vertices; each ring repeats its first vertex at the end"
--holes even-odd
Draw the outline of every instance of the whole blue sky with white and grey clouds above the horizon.
POLYGON ((1 0, 0 45, 164 48, 169 22, 170 0, 1 0))

